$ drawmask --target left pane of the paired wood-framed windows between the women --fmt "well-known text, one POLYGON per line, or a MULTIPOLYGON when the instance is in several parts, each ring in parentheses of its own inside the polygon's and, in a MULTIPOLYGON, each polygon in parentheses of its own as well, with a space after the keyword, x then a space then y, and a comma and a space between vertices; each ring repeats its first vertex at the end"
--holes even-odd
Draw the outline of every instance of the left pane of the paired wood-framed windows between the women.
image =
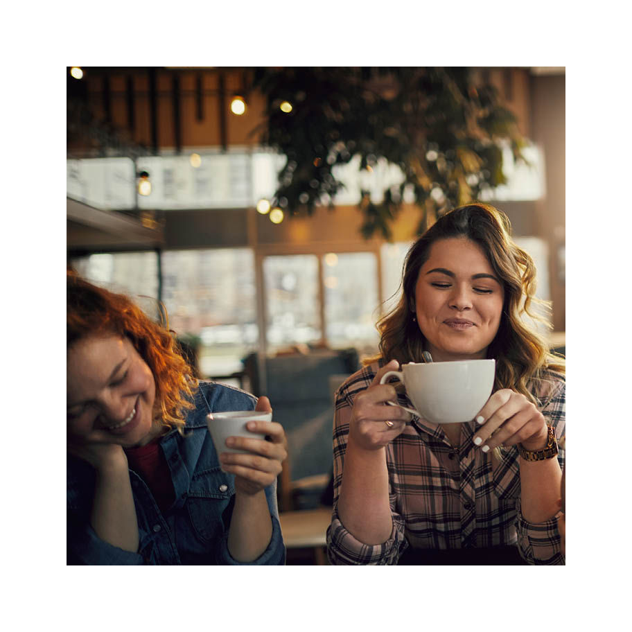
POLYGON ((321 339, 317 256, 265 257, 263 286, 268 351, 321 339))

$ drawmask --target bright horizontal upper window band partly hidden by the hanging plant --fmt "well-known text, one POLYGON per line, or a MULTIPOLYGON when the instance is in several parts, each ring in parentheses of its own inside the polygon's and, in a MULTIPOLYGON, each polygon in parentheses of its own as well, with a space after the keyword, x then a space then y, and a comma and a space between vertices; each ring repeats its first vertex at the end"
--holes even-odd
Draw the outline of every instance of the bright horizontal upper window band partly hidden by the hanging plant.
MULTIPOLYGON (((129 158, 67 159, 67 195, 98 209, 209 209, 247 207, 260 198, 270 198, 277 188, 277 174, 285 157, 257 148, 244 152, 215 148, 200 150, 201 164, 191 165, 188 155, 141 156, 129 158), (137 172, 146 170, 152 193, 138 196, 137 172)), ((538 200, 545 195, 545 166, 542 150, 523 148, 526 162, 514 161, 509 146, 502 146, 502 171, 507 183, 481 192, 482 200, 538 200)), ((360 170, 360 157, 334 167, 333 174, 344 184, 335 195, 337 205, 358 204, 360 191, 380 200, 385 187, 399 186, 401 168, 378 160, 374 170, 360 170)), ((407 195, 404 194, 404 200, 407 195)))

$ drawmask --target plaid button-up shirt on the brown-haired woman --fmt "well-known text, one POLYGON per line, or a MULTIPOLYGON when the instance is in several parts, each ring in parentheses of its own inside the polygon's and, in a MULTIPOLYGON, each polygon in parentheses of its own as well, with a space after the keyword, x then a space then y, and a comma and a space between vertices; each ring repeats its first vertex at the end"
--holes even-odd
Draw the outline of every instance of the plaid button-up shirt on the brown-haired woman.
MULTIPOLYGON (((532 564, 563 564, 556 518, 529 523, 520 512, 518 448, 502 460, 473 444, 475 422, 461 424, 461 444, 453 447, 439 426, 414 416, 386 448, 393 529, 389 539, 366 545, 340 522, 337 500, 356 395, 371 385, 378 365, 353 374, 335 394, 333 428, 333 516, 327 529, 333 564, 396 564, 407 546, 415 549, 471 549, 518 545, 532 564)), ((557 439, 565 436, 565 381, 550 376, 533 394, 557 439)), ((412 406, 405 394, 399 402, 412 406)), ((564 450, 559 450, 563 467, 564 450)))

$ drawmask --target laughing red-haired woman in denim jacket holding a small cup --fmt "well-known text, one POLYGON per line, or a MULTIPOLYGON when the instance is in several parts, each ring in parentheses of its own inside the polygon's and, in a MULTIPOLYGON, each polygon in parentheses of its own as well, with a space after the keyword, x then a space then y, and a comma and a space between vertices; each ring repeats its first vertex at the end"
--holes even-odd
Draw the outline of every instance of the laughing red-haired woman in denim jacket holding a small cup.
POLYGON ((245 454, 218 454, 207 430, 209 412, 253 408, 271 410, 195 380, 169 331, 67 272, 68 563, 285 563, 283 428, 227 440, 245 454))

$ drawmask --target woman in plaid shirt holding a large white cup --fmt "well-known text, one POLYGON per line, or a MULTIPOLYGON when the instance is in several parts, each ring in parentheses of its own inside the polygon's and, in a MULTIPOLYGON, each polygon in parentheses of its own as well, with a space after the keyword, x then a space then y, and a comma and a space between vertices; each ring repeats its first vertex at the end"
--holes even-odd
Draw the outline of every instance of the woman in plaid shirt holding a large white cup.
POLYGON ((446 213, 412 245, 379 356, 336 393, 332 563, 564 563, 565 365, 536 331, 535 289, 532 258, 489 204, 446 213), (412 406, 380 379, 424 351, 495 360, 475 419, 437 425, 385 405, 412 406))

